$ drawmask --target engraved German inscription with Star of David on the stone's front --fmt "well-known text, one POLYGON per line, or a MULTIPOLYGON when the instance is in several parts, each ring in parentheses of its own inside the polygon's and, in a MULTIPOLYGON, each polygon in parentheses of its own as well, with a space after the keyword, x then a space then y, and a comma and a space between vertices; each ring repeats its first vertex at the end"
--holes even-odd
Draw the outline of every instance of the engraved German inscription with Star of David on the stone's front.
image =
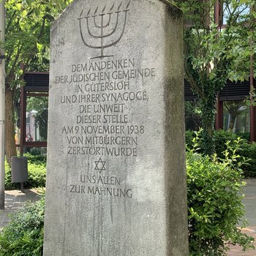
POLYGON ((156 70, 138 69, 137 62, 126 58, 71 64, 69 75, 56 76, 56 83, 70 88, 69 94, 59 95, 59 104, 76 109, 75 122, 61 128, 67 156, 97 157, 89 173, 69 185, 70 193, 132 197, 132 189, 127 189, 120 177, 108 176, 104 157, 140 154, 146 127, 132 121, 132 105, 144 108, 148 104, 147 86, 156 70), (99 176, 91 173, 95 171, 99 176))

